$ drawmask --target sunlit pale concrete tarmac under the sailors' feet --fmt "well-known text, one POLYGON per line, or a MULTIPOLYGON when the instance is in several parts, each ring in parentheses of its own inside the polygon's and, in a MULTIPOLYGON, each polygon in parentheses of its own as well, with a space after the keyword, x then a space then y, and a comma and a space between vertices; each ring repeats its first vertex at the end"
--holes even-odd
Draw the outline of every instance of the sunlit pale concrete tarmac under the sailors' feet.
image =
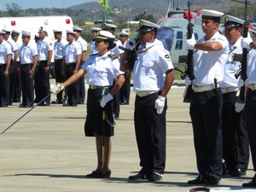
MULTIPOLYGON (((132 191, 187 192, 198 187, 187 184, 197 177, 195 149, 189 118, 189 104, 183 103, 183 86, 173 86, 168 95, 166 115, 166 172, 163 180, 128 181, 140 170, 133 125, 135 94, 130 105, 120 106, 112 137, 112 175, 109 178, 85 177, 96 169, 96 143, 84 137, 86 104, 78 107, 36 107, 3 135, 0 135, 1 192, 108 192, 132 191)), ((55 101, 55 96, 51 95, 55 101)), ((0 131, 19 119, 29 108, 15 103, 0 108, 0 131)), ((256 191, 241 188, 253 177, 250 162, 244 177, 224 177, 211 191, 256 191)))

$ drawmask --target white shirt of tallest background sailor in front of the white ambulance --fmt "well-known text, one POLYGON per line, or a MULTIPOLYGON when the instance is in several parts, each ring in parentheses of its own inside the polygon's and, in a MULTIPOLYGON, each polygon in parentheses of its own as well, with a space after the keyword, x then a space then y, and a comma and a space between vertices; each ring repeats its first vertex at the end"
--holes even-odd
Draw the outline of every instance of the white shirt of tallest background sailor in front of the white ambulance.
POLYGON ((38 61, 48 60, 50 50, 53 50, 53 46, 48 38, 38 40, 38 61))

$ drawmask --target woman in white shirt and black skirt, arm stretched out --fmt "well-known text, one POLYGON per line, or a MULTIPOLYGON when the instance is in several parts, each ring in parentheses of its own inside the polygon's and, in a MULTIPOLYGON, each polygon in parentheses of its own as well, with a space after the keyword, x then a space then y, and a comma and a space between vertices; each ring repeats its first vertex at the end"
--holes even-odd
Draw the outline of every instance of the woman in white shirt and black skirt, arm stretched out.
POLYGON ((88 73, 89 84, 87 96, 87 116, 84 125, 86 137, 96 137, 97 168, 87 177, 110 177, 109 160, 111 154, 111 139, 113 136, 113 95, 119 91, 125 82, 124 73, 119 71, 119 60, 109 55, 108 50, 113 49, 114 36, 111 32, 100 31, 96 36, 96 50, 99 54, 91 55, 79 69, 78 73, 67 79, 63 84, 55 85, 53 92, 57 94, 64 87, 88 73), (112 90, 109 90, 116 83, 112 90), (106 112, 107 121, 102 121, 102 113, 106 112), (102 123, 103 122, 103 123, 102 123), (105 124, 104 124, 105 123, 105 124), (103 128, 104 127, 104 130, 103 128), (103 144, 104 141, 104 144, 103 144), (102 147, 105 147, 104 160, 102 160, 102 147))

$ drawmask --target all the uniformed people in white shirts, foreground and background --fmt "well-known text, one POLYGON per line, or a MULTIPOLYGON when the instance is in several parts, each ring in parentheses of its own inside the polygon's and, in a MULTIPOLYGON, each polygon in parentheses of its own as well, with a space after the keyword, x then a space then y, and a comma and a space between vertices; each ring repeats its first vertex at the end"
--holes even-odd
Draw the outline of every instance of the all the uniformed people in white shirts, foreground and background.
MULTIPOLYGON (((189 114, 199 172, 198 177, 188 181, 192 185, 218 185, 223 175, 246 175, 250 150, 256 172, 256 42, 250 33, 244 34, 245 20, 231 15, 225 16, 224 34, 221 34, 218 26, 223 16, 224 13, 202 9, 205 36, 196 41, 192 35, 187 40, 187 49, 193 50, 195 78, 186 77, 185 84, 192 87, 189 114), (245 52, 247 79, 236 75, 243 61, 236 60, 235 55, 245 52)), ((53 103, 72 107, 84 103, 83 78, 84 73, 88 74, 84 133, 86 137, 96 137, 97 166, 87 177, 110 177, 114 119, 119 118, 119 104, 129 104, 132 73, 141 169, 128 179, 161 180, 166 166, 166 96, 172 87, 174 68, 169 51, 156 39, 158 28, 157 24, 140 20, 138 40, 128 39, 129 32, 120 30, 119 40, 115 41, 116 26, 92 27, 91 55, 86 60, 87 43, 81 38, 79 27, 67 31, 67 41, 61 38, 61 31, 55 30, 54 46, 47 40, 44 27, 39 32, 38 46, 31 42, 30 32, 21 33, 20 48, 7 41, 7 31, 0 32, 1 107, 11 104, 10 90, 15 88, 9 89, 9 73, 14 73, 17 61, 22 86, 20 107, 32 107, 33 102, 42 99, 40 105, 49 105, 49 65, 54 49, 57 84, 51 91, 57 99, 53 103), (128 50, 136 53, 132 67, 125 62, 131 52, 128 50), (119 94, 120 90, 124 92, 119 94)), ((256 187, 256 174, 242 186, 256 187)))

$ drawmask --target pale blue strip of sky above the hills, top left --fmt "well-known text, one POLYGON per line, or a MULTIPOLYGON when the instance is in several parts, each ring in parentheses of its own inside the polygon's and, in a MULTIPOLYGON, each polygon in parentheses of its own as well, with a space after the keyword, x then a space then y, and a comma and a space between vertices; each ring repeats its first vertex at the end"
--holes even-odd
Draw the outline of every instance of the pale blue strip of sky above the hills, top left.
POLYGON ((21 9, 29 8, 60 8, 65 9, 73 5, 98 2, 99 0, 0 0, 0 9, 5 10, 5 4, 18 3, 21 9))

